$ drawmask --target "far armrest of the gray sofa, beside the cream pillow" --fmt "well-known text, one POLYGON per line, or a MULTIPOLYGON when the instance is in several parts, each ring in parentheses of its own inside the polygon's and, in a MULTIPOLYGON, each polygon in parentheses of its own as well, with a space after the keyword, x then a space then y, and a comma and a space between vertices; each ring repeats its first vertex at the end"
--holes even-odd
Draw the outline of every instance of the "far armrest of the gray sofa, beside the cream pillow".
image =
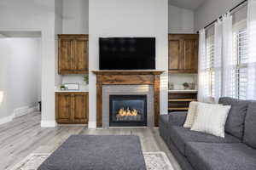
POLYGON ((171 112, 169 113, 169 125, 183 126, 187 118, 187 111, 171 112))

